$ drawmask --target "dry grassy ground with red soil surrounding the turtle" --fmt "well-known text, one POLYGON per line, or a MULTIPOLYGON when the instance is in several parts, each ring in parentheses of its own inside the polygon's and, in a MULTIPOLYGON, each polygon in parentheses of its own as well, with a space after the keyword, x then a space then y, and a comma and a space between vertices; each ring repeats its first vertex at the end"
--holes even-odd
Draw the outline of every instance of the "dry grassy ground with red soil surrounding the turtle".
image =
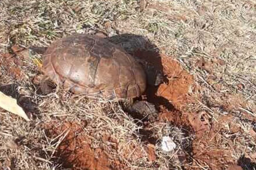
POLYGON ((33 117, 0 111, 2 169, 256 169, 255 1, 1 0, 0 9, 0 90, 33 117), (162 70, 165 82, 143 95, 159 115, 140 121, 117 103, 42 94, 22 49, 76 32, 105 34, 162 70), (167 135, 172 152, 160 147, 167 135))

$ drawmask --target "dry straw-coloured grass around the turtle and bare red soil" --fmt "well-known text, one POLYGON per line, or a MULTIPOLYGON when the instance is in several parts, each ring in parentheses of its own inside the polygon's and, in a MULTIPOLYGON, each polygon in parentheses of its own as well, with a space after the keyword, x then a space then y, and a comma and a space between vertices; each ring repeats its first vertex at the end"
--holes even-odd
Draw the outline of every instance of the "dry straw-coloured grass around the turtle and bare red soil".
MULTIPOLYGON (((209 136, 204 136, 209 143, 197 139, 198 143, 193 147, 200 149, 199 145, 204 143, 208 150, 229 150, 230 161, 239 160, 241 155, 256 161, 256 134, 253 131, 256 121, 255 1, 1 0, 0 11, 2 53, 9 51, 14 44, 47 46, 52 40, 75 32, 104 32, 108 36, 132 33, 147 37, 194 76, 195 85, 188 94, 191 102, 183 112, 205 111, 211 125, 219 127, 213 128, 209 136)), ((1 146, 15 139, 19 145, 18 149, 0 150, 0 167, 13 170, 61 169, 52 161, 52 152, 61 137, 52 140, 40 125, 56 122, 58 127, 64 120, 69 120, 87 122, 83 134, 90 134, 93 148, 109 147, 102 136, 110 135, 116 139, 119 148, 106 149, 106 152, 129 169, 211 168, 211 162, 201 159, 200 154, 194 153, 196 156, 191 157, 192 154, 184 149, 191 144, 192 136, 186 136, 168 122, 152 123, 156 132, 153 135, 157 139, 167 134, 173 136, 180 145, 179 149, 174 153, 163 153, 156 145, 158 158, 154 163, 149 162, 145 144, 138 135, 141 127, 116 103, 98 103, 81 96, 71 99, 69 94, 56 92, 39 95, 31 82, 37 70, 33 65, 22 70, 23 78, 13 80, 1 65, 0 84, 18 83, 20 94, 29 96, 39 106, 40 118, 27 123, 9 113, 0 113, 1 146), (140 158, 124 156, 127 150, 133 153, 131 146, 137 147, 140 158), (181 163, 178 156, 184 155, 195 164, 181 163)), ((198 153, 201 152, 199 149, 198 153)), ((227 164, 223 164, 223 168, 226 167, 227 164)))

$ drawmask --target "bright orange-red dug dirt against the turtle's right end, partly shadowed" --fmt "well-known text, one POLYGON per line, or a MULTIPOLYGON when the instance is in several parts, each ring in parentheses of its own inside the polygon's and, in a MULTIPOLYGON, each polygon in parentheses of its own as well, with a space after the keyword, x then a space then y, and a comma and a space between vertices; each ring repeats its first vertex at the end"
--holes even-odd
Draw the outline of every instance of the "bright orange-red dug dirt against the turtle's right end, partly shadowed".
POLYGON ((177 61, 164 54, 152 51, 136 51, 135 56, 154 65, 165 75, 165 82, 158 88, 148 87, 149 100, 162 105, 164 102, 171 103, 175 109, 181 110, 188 102, 187 94, 193 83, 192 75, 183 70, 177 61), (165 101, 160 101, 161 99, 165 101))

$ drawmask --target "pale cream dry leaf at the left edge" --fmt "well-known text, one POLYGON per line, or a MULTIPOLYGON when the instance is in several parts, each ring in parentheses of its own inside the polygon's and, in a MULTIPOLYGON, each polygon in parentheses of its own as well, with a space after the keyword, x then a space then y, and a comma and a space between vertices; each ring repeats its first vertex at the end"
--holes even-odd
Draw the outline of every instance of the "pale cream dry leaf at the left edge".
POLYGON ((17 100, 2 92, 0 92, 0 107, 22 117, 26 121, 30 121, 23 109, 17 104, 17 100))

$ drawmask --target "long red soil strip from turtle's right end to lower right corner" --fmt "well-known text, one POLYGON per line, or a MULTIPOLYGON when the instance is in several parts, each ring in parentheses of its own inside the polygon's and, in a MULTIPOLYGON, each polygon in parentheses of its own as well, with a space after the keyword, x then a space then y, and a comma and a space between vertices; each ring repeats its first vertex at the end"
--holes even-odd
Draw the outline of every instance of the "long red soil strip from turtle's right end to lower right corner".
MULTIPOLYGON (((234 148, 225 149, 221 144, 219 132, 224 127, 220 123, 212 125, 204 111, 187 113, 184 109, 184 106, 192 102, 188 97, 189 88, 194 82, 192 75, 183 70, 177 61, 166 55, 151 51, 137 51, 135 56, 163 71, 164 83, 158 88, 148 87, 146 96, 149 102, 153 102, 160 108, 160 119, 172 122, 195 134, 190 150, 187 150, 197 161, 192 161, 192 164, 198 166, 198 162, 201 165, 207 163, 210 168, 216 170, 221 170, 228 164, 232 164, 235 160, 231 150, 234 148)), ((205 65, 203 66, 207 68, 205 65)), ((227 122, 230 121, 227 120, 225 123, 227 122)), ((233 126, 230 125, 230 127, 233 126)))

